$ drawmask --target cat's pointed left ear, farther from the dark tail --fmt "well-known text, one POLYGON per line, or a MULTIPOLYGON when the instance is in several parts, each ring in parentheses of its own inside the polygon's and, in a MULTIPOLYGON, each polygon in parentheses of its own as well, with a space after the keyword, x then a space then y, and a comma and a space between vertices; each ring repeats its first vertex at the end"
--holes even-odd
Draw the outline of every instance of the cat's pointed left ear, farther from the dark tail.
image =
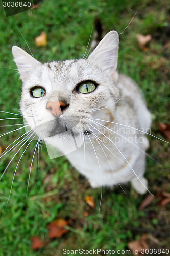
POLYGON ((12 54, 14 56, 16 66, 18 67, 20 78, 23 82, 30 76, 30 73, 35 70, 38 65, 41 65, 38 60, 34 59, 18 46, 12 47, 12 54))

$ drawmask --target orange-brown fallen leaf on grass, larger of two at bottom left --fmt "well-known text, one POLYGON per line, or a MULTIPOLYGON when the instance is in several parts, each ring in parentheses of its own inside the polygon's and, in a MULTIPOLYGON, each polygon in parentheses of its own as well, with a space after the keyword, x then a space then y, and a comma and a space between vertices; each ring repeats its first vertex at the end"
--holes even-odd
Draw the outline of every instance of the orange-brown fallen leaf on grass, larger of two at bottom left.
POLYGON ((66 234, 69 230, 65 228, 68 225, 68 222, 64 219, 59 218, 56 221, 51 222, 47 228, 50 231, 48 236, 50 238, 60 238, 63 234, 66 234))

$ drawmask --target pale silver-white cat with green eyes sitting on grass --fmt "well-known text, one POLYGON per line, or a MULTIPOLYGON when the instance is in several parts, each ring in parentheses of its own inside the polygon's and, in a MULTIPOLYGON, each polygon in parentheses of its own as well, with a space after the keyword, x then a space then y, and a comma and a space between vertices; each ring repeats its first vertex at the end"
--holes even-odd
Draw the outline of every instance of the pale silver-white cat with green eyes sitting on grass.
POLYGON ((118 74, 118 44, 118 33, 110 31, 87 59, 43 64, 13 46, 20 110, 39 139, 66 155, 91 187, 131 182, 144 194, 151 114, 137 84, 118 74))

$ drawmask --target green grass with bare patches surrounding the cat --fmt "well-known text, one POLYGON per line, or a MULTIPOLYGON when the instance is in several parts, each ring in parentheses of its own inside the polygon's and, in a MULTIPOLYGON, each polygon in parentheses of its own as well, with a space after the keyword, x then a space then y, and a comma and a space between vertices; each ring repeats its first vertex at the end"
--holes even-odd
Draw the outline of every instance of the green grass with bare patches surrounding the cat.
MULTIPOLYGON (((44 0, 39 6, 38 9, 11 17, 6 17, 4 10, 0 10, 0 110, 18 113, 19 109, 21 81, 18 80, 15 70, 12 70, 16 69, 11 53, 13 45, 19 45, 29 52, 28 44, 35 58, 41 62, 80 58, 86 50, 96 16, 101 18, 106 32, 114 29, 120 34, 138 10, 132 23, 120 36, 118 69, 120 73, 128 74, 139 84, 154 118, 152 134, 163 138, 158 131, 158 124, 169 123, 170 102, 170 51, 169 46, 166 47, 169 40, 166 32, 169 26, 168 0, 163 3, 158 0, 44 0), (35 37, 42 31, 46 32, 48 39, 44 48, 35 46, 35 37), (152 34, 153 39, 147 51, 138 48, 137 34, 152 34)), ((0 116, 12 117, 5 113, 0 116)), ((1 125, 13 123, 21 121, 1 121, 1 125)), ((1 127, 1 133, 11 130, 12 127, 1 127)), ((0 146, 5 149, 21 135, 22 131, 18 131, 1 137, 0 146)), ((162 166, 147 159, 146 176, 149 189, 153 193, 163 189, 168 191, 169 147, 155 138, 150 138, 150 142, 149 154, 162 166)), ((33 155, 31 148, 34 146, 35 142, 32 142, 30 150, 20 161, 7 207, 13 173, 21 153, 14 158, 0 181, 0 256, 10 256, 14 253, 18 256, 61 255, 63 248, 125 250, 129 241, 138 238, 141 233, 134 233, 132 227, 142 227, 143 219, 147 218, 147 213, 143 217, 144 212, 138 210, 143 197, 137 196, 129 186, 124 186, 129 197, 120 188, 115 191, 104 188, 99 214, 101 189, 91 189, 88 182, 81 179, 64 157, 49 159, 45 145, 40 154, 39 172, 36 157, 33 162, 26 197, 33 155), (45 183, 46 177, 49 178, 50 185, 45 183), (88 217, 84 217, 87 210, 84 200, 86 195, 93 195, 96 203, 96 209, 89 210, 88 217), (30 237, 41 236, 46 239, 47 224, 59 217, 71 220, 71 231, 62 238, 51 240, 43 249, 34 251, 30 237)), ((1 159, 1 173, 10 159, 11 155, 1 159)), ((157 222, 148 220, 147 223, 150 229, 154 229, 157 222)), ((165 246, 167 239, 161 243, 161 246, 165 246)))

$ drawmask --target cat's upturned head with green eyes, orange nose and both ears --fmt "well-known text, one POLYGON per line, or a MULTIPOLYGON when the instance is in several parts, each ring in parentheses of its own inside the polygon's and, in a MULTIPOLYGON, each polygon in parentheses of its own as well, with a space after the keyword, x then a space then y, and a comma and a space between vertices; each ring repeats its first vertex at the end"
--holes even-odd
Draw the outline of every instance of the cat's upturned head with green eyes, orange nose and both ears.
POLYGON ((109 32, 88 59, 40 63, 12 49, 23 82, 20 109, 41 138, 88 133, 88 119, 112 121, 116 89, 118 34, 109 32), (100 111, 97 111, 101 109, 100 111))

